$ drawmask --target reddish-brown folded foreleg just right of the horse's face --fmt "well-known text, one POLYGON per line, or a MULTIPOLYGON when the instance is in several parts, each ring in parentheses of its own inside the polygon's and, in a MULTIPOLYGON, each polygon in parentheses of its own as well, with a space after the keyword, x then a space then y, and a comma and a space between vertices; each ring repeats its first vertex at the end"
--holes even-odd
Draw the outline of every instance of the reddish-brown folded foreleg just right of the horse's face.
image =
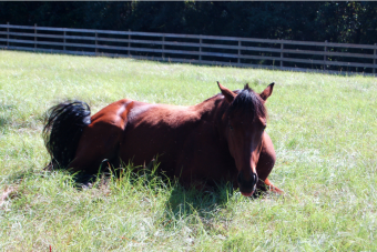
POLYGON ((276 188, 268 179, 271 171, 273 170, 276 161, 276 153, 274 150, 273 142, 267 133, 263 134, 263 148, 259 154, 259 160, 256 165, 256 172, 259 181, 256 188, 261 191, 272 191, 276 193, 284 193, 281 189, 276 188))

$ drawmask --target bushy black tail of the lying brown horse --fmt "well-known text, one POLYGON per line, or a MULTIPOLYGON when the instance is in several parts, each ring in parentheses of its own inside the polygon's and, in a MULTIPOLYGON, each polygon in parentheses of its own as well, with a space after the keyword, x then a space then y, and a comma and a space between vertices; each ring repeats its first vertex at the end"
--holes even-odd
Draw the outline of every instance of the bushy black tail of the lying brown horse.
POLYGON ((48 110, 44 118, 44 145, 51 155, 51 169, 67 168, 85 127, 91 123, 90 108, 82 101, 65 101, 48 110))

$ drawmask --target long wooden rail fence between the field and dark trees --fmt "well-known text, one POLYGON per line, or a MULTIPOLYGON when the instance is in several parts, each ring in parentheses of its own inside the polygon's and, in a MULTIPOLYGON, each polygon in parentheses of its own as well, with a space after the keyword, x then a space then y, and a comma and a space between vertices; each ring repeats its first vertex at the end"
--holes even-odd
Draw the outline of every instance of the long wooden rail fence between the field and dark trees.
POLYGON ((0 48, 298 71, 376 73, 377 44, 0 24, 0 48))

